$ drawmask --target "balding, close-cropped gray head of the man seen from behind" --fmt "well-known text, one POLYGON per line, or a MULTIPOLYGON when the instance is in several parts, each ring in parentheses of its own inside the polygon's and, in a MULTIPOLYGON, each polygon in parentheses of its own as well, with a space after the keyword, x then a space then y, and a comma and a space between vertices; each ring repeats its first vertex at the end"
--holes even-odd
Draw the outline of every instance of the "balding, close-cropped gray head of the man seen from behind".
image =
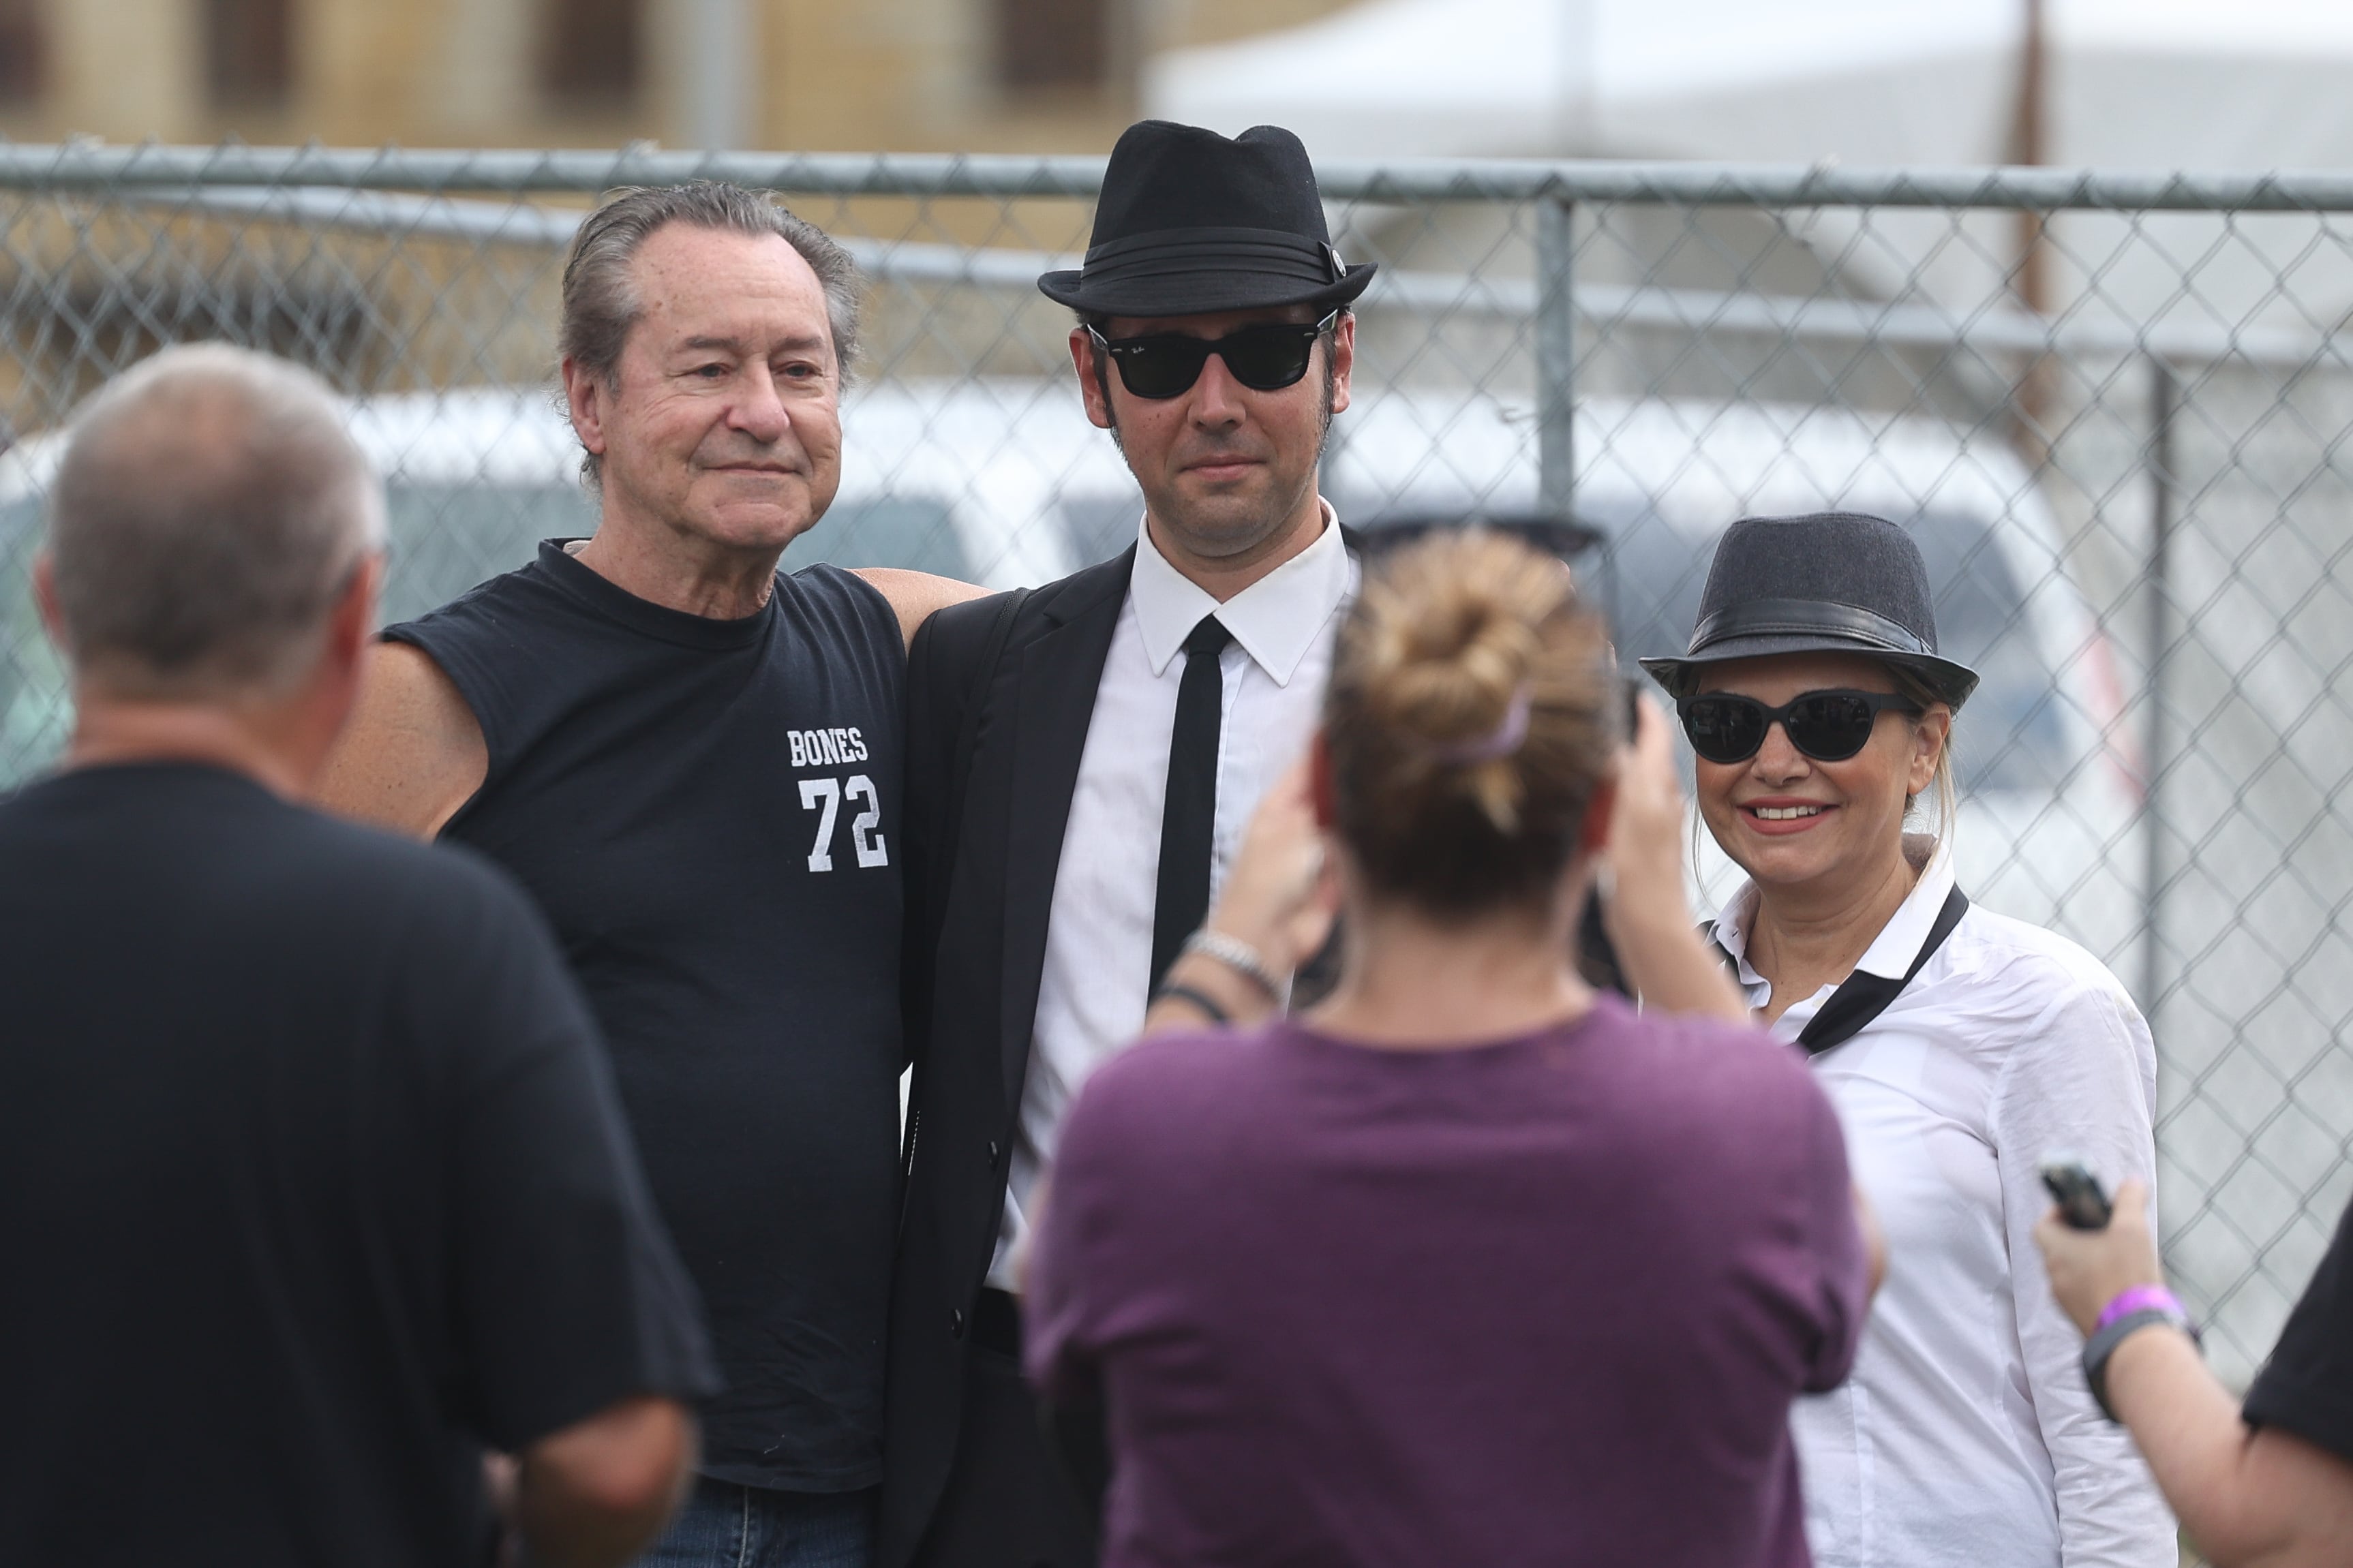
POLYGON ((49 491, 66 656, 134 698, 299 682, 381 545, 384 494, 327 383, 228 343, 92 393, 49 491))

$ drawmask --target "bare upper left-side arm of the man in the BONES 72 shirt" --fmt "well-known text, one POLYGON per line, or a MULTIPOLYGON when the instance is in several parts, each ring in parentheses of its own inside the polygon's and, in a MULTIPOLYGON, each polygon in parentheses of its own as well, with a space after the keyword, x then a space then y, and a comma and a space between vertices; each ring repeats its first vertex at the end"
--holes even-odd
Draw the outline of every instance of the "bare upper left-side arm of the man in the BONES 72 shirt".
POLYGON ((424 649, 379 642, 311 797, 336 816, 431 839, 487 776, 482 726, 440 665, 424 649))

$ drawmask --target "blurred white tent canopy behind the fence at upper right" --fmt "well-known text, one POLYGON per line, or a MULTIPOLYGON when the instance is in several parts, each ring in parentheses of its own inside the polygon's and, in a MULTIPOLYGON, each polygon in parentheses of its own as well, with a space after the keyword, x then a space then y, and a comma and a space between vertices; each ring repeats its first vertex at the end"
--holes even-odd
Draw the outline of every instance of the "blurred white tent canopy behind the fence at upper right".
MULTIPOLYGON (((2049 165, 2353 167, 2353 2, 2049 0, 2049 165)), ((1318 158, 1694 158, 1849 167, 2007 155, 2024 0, 1367 0, 1235 45, 1158 56, 1153 115, 1287 125, 1318 158)), ((1880 296, 1955 315, 1998 289, 2002 221, 1824 214, 1817 252, 1880 296), (1915 292, 1918 289, 1918 292, 1915 292)), ((2052 303, 2118 324, 2299 327, 2353 310, 2353 273, 2282 268, 2304 219, 2066 214, 2052 303), (2186 261, 2195 259, 2186 277, 2186 261), (2322 275, 2325 273, 2325 275, 2322 275), (2097 282, 2094 282, 2097 280, 2097 282), (2097 299, 2082 299, 2085 289, 2097 299), (2294 299, 2289 299, 2294 294, 2294 299)))

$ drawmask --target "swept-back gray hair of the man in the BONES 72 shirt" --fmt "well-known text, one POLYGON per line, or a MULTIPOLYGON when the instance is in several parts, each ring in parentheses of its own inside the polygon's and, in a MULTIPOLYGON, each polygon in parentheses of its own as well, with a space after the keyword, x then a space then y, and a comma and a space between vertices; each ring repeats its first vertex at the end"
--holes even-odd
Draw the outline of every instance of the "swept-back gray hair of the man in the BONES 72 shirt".
MULTIPOLYGON (((715 228, 732 235, 776 235, 809 263, 826 294, 826 327, 833 334, 833 362, 842 383, 859 353, 859 263, 826 230, 795 216, 781 202, 718 179, 689 179, 682 186, 628 186, 588 214, 572 237, 565 261, 565 315, 555 329, 555 348, 565 360, 595 374, 605 386, 619 386, 621 346, 645 313, 628 263, 638 249, 668 223, 715 228)), ((581 458, 581 480, 600 482, 605 463, 598 454, 581 458)))

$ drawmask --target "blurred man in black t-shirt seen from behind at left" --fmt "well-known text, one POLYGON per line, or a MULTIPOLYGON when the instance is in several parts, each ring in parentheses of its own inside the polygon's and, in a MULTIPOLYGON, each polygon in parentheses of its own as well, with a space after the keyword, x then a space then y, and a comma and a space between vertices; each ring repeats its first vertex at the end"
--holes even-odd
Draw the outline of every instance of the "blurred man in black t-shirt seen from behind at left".
POLYGON ((595 1027, 489 867, 313 816, 384 503, 313 376, 80 414, 64 771, 0 804, 0 1561, 621 1563, 713 1387, 595 1027), (501 1488, 506 1490, 506 1488, 501 1488))

